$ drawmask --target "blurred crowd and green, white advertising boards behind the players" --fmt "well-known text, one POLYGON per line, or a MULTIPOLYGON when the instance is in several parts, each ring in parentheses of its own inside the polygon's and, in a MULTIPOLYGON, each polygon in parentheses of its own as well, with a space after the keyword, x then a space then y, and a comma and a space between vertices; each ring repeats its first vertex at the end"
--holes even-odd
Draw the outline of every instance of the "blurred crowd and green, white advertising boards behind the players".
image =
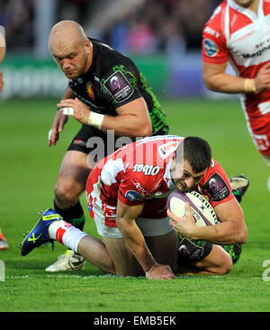
POLYGON ((202 82, 202 28, 222 0, 0 0, 6 37, 2 99, 59 96, 67 79, 48 49, 51 27, 74 20, 130 56, 161 96, 211 96, 202 82))

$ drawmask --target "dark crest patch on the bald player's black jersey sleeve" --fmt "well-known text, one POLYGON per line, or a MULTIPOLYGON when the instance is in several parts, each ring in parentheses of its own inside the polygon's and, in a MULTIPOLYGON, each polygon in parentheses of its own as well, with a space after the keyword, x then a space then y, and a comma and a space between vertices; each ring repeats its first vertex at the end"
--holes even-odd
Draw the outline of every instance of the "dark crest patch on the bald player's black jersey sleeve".
POLYGON ((112 76, 104 82, 104 87, 117 103, 127 100, 134 92, 134 88, 130 86, 128 79, 125 78, 121 71, 114 72, 112 76))

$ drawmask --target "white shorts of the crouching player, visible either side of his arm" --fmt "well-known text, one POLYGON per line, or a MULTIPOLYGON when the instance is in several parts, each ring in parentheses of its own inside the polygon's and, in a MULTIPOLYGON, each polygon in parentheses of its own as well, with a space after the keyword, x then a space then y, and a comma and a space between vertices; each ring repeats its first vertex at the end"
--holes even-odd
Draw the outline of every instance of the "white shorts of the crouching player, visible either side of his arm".
MULTIPOLYGON (((122 238, 121 231, 117 227, 109 227, 104 225, 103 217, 95 216, 94 218, 97 233, 104 237, 122 238)), ((137 218, 136 224, 143 236, 161 236, 173 231, 173 227, 169 225, 169 217, 161 219, 137 218)))

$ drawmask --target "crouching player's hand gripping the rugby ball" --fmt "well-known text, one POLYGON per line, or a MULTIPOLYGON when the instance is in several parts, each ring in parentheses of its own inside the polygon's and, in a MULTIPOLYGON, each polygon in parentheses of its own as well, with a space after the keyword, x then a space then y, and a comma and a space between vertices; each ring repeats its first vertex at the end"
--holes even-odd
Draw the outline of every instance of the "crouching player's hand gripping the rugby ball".
POLYGON ((174 215, 169 209, 166 210, 166 214, 170 217, 169 224, 173 226, 176 233, 187 238, 193 238, 193 230, 196 225, 189 203, 185 203, 185 215, 183 217, 174 215))

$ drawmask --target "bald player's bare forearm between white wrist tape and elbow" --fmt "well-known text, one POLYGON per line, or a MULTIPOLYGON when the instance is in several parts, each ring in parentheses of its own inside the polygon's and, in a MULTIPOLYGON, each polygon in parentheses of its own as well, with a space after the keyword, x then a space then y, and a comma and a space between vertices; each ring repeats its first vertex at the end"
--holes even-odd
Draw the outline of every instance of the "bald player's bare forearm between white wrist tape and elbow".
POLYGON ((113 130, 116 136, 145 137, 152 133, 149 122, 142 122, 137 115, 105 115, 102 130, 113 130))

